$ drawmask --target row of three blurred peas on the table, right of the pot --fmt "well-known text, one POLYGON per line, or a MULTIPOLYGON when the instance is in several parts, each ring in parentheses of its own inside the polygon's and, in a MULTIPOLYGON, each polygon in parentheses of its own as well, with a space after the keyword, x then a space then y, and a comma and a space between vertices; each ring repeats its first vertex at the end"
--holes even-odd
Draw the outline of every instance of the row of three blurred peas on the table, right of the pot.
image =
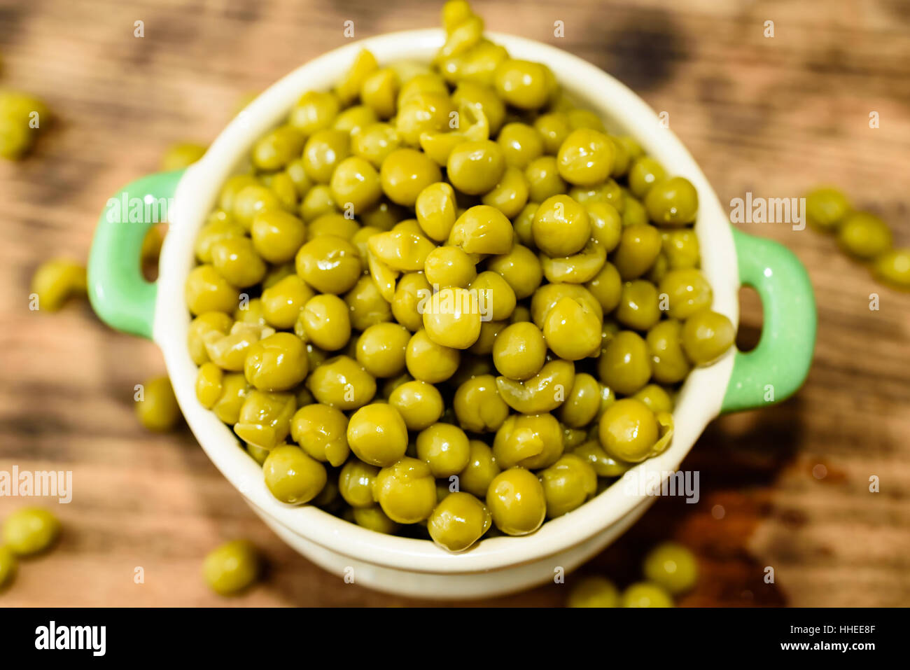
POLYGON ((910 249, 894 249, 891 228, 871 212, 858 211, 836 188, 815 188, 805 197, 806 218, 814 228, 833 233, 841 249, 869 264, 875 279, 910 290, 910 249))

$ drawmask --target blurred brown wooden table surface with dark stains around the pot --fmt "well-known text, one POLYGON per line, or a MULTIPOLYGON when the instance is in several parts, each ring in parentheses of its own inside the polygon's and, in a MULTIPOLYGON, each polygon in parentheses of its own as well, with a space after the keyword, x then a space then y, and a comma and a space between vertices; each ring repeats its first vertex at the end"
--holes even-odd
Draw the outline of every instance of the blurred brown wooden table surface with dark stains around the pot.
MULTIPOLYGON (((638 91, 703 167, 722 202, 844 188, 910 245, 910 5, 905 0, 511 0, 477 3, 490 29, 561 46, 638 91), (554 37, 561 20, 565 36, 554 37), (765 21, 774 36, 765 37, 765 21), (869 127, 878 112, 880 127, 869 127)), ((208 142, 238 98, 357 37, 426 27, 440 3, 372 0, 0 0, 0 86, 43 97, 56 124, 0 165, 0 470, 71 470, 70 504, 0 498, 0 518, 44 503, 65 525, 21 566, 8 605, 389 605, 420 601, 343 584, 258 521, 188 431, 136 423, 133 386, 162 373, 154 345, 84 304, 28 310, 35 266, 84 259, 116 188, 177 140, 208 142), (134 36, 135 22, 145 36, 134 36), (202 557, 238 536, 268 580, 229 601, 202 557), (134 582, 141 566, 145 582, 134 582)), ((697 553, 690 605, 910 604, 910 296, 810 229, 745 224, 786 244, 818 300, 814 367, 790 401, 714 421, 684 469, 701 502, 661 499, 585 570, 627 584, 675 538, 697 553), (870 310, 870 293, 880 310, 870 310), (819 467, 822 466, 822 467, 819 467), (869 478, 880 478, 880 492, 869 478), (774 583, 765 584, 766 567, 774 583)), ((761 308, 743 295, 741 339, 761 308)), ((495 605, 555 605, 549 585, 495 605)))

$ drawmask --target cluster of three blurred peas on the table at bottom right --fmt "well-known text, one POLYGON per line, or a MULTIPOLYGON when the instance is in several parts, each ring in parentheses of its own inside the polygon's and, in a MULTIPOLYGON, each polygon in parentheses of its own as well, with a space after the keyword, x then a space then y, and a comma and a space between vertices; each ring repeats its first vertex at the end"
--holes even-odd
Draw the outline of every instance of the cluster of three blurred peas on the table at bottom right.
POLYGON ((569 607, 672 607, 673 597, 691 591, 698 581, 695 556, 682 544, 666 542, 644 558, 644 581, 620 593, 606 577, 582 576, 573 580, 569 607))

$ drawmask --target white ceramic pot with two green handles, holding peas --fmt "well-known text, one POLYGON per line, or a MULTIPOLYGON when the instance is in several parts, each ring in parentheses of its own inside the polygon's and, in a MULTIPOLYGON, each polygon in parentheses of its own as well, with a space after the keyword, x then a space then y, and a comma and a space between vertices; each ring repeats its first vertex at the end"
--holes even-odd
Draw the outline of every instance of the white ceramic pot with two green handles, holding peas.
MULTIPOLYGON (((443 41, 440 30, 416 30, 351 43, 298 67, 268 88, 217 137, 207 154, 186 171, 161 173, 130 184, 108 202, 99 221, 89 263, 90 297, 98 315, 119 330, 150 337, 164 352, 167 372, 190 429, 218 470, 224 473, 268 525, 299 553, 329 572, 348 574, 359 584, 425 598, 480 598, 529 588, 551 580, 600 552, 634 523, 653 498, 629 491, 622 482, 578 510, 545 523, 525 537, 485 539, 466 553, 450 554, 433 543, 374 533, 316 507, 279 503, 268 492, 262 471, 238 447, 233 432, 197 401, 197 368, 187 352, 189 314, 184 283, 194 265, 193 242, 225 181, 248 156, 254 141, 278 125, 309 89, 328 89, 349 68, 359 49, 388 62, 429 60, 443 41), (123 195, 126 194, 126 199, 123 195), (141 224, 115 202, 148 202, 173 196, 171 226, 154 284, 138 272, 139 248, 154 215, 141 224)), ((693 371, 674 412, 671 447, 627 476, 676 471, 709 421, 721 411, 765 403, 768 386, 781 401, 804 380, 814 347, 812 289, 799 261, 786 249, 733 231, 721 203, 682 143, 641 98, 598 68, 553 46, 508 35, 491 35, 511 56, 551 67, 572 96, 598 112, 614 132, 629 134, 698 189, 695 230, 703 271, 714 290, 713 309, 738 321, 737 290, 753 285, 763 299, 759 346, 748 354, 730 351, 708 368, 693 371)))

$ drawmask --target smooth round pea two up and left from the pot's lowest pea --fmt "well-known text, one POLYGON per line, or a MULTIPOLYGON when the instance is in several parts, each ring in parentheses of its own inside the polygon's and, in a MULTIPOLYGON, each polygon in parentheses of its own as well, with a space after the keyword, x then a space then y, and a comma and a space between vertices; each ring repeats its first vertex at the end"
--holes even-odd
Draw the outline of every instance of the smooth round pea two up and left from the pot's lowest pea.
POLYGON ((350 417, 348 444, 361 461, 386 467, 404 456, 408 448, 408 427, 391 405, 365 405, 350 417))

